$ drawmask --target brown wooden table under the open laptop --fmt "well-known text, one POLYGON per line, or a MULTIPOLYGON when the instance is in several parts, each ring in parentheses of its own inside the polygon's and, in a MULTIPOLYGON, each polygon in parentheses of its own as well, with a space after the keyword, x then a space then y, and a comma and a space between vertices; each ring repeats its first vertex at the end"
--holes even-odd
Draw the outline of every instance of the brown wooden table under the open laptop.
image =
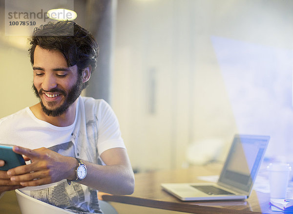
MULTIPOLYGON (((101 194, 105 201, 196 214, 282 214, 272 212, 269 194, 252 191, 246 200, 191 201, 183 202, 162 190, 161 183, 194 182, 197 176, 218 175, 220 165, 198 166, 190 169, 138 173, 135 175, 135 190, 131 196, 101 194)), ((203 181, 200 181, 203 182, 203 181)))

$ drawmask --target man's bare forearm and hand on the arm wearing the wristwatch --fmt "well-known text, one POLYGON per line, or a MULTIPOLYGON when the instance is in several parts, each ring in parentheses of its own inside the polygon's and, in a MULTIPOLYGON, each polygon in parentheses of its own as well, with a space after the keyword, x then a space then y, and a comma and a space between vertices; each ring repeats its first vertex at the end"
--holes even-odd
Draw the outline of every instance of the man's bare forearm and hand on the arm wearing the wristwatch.
MULTIPOLYGON (((23 187, 40 186, 62 179, 76 179, 75 170, 78 162, 75 158, 60 155, 43 147, 31 150, 15 146, 13 149, 14 152, 32 160, 32 163, 10 169, 7 174, 2 172, 11 184, 21 184, 23 187)), ((101 158, 105 162, 105 166, 83 160, 87 167, 87 176, 80 183, 110 194, 132 194, 134 174, 126 150, 123 148, 108 149, 102 153, 101 158)))

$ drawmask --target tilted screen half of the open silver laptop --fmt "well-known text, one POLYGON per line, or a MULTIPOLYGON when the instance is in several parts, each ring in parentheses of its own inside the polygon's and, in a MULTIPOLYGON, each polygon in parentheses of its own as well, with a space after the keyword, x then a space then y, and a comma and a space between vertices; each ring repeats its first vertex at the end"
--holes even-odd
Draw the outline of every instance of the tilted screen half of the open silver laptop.
POLYGON ((219 183, 249 195, 270 137, 235 135, 219 183))

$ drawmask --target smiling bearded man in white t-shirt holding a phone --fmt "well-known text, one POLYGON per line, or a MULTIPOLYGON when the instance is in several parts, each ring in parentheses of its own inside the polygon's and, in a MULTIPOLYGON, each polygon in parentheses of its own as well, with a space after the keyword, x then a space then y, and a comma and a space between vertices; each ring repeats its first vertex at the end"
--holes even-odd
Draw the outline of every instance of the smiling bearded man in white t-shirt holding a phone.
POLYGON ((17 145, 13 150, 30 164, 0 171, 0 194, 20 189, 72 212, 102 213, 97 191, 132 194, 134 176, 111 107, 80 96, 98 45, 72 21, 35 29, 30 45, 40 102, 0 119, 0 143, 17 145))

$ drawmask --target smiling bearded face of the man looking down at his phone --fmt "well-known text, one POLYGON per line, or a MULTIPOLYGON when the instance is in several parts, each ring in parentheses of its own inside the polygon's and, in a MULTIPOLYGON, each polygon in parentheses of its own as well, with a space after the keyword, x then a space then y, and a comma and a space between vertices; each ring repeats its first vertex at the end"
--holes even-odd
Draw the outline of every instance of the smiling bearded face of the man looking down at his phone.
MULTIPOLYGON (((47 119, 63 115, 65 123, 72 123, 73 121, 66 119, 70 117, 65 115, 69 112, 75 113, 68 108, 76 108, 76 104, 73 104, 83 90, 83 83, 88 81, 90 77, 90 68, 85 68, 82 75, 78 75, 77 65, 67 67, 62 53, 42 49, 40 46, 35 47, 34 62, 32 63, 33 89, 40 99, 40 103, 31 107, 31 110, 47 119)), ((74 115, 72 116, 71 119, 74 118, 74 115)))

